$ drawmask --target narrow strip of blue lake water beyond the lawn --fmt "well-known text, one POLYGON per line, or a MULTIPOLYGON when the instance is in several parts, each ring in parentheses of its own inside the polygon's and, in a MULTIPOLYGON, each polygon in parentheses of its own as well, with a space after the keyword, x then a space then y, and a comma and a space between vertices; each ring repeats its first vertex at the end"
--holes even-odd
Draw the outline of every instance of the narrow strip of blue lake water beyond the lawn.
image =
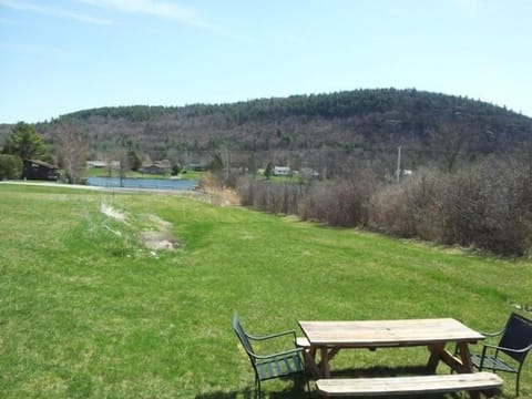
POLYGON ((123 187, 146 190, 194 190, 197 181, 178 178, 119 178, 119 177, 89 177, 86 185, 98 187, 123 187))

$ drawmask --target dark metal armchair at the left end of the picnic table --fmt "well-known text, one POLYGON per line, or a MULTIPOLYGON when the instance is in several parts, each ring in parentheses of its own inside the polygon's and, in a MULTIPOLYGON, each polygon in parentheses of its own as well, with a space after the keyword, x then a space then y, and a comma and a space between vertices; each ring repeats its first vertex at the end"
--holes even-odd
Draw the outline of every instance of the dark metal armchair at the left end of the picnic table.
POLYGON ((296 341, 296 331, 288 330, 277 334, 267 335, 264 337, 256 337, 247 334, 241 325, 238 316, 233 317, 233 329, 236 332, 242 346, 246 350, 249 360, 252 361, 255 371, 255 392, 258 398, 262 398, 260 382, 274 378, 283 378, 299 375, 306 380, 307 392, 310 397, 310 387, 308 376, 305 369, 305 360, 303 356, 303 348, 290 348, 269 355, 257 355, 253 349, 250 340, 264 341, 272 338, 291 336, 293 342, 296 341))

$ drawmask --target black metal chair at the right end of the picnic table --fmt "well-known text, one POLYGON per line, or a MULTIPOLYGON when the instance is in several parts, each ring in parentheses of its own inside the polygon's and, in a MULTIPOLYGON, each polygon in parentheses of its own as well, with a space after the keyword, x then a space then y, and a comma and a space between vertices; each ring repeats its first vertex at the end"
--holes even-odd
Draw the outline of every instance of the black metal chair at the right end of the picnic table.
POLYGON ((471 354, 471 362, 479 370, 515 374, 515 395, 519 396, 521 369, 526 355, 532 349, 532 320, 512 313, 502 330, 482 335, 502 337, 498 345, 484 344, 482 354, 471 354))

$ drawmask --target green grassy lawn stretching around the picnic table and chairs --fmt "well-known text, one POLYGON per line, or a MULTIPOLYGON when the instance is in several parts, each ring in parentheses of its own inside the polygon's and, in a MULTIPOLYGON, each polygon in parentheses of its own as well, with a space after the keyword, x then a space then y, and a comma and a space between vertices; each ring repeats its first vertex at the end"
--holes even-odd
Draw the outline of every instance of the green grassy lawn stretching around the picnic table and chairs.
MULTIPOLYGON (((2 398, 249 398, 235 311, 256 335, 298 319, 423 317, 493 331, 513 304, 532 304, 530 262, 174 194, 0 184, 0 226, 2 398), (139 243, 161 226, 177 250, 139 243)), ((376 374, 427 359, 424 348, 345 350, 331 368, 376 374)), ((532 397, 531 361, 522 398, 532 397)), ((500 397, 513 398, 514 376, 501 377, 500 397)), ((269 398, 304 398, 291 387, 264 383, 269 398)))

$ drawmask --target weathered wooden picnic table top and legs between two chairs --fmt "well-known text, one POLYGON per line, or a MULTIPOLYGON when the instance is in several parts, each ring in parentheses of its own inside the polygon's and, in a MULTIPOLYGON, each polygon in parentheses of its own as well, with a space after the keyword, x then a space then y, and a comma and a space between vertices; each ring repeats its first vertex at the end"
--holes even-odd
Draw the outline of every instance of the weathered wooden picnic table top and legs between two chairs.
POLYGON ((436 372, 439 361, 460 374, 473 372, 468 346, 484 339, 480 332, 452 318, 299 321, 299 327, 308 339, 307 366, 316 378, 330 377, 329 362, 345 348, 427 346, 429 372, 436 372), (447 344, 458 346, 458 356, 446 349, 447 344), (316 361, 318 351, 320 366, 316 361))

